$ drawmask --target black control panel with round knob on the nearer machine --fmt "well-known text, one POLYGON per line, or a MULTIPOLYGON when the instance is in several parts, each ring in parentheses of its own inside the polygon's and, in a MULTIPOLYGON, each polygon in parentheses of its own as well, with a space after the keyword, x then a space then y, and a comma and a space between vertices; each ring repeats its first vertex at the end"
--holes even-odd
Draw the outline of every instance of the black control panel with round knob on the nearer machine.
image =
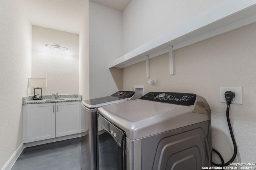
POLYGON ((183 106, 194 105, 196 94, 192 93, 175 93, 175 92, 150 92, 140 99, 155 102, 178 104, 183 106))

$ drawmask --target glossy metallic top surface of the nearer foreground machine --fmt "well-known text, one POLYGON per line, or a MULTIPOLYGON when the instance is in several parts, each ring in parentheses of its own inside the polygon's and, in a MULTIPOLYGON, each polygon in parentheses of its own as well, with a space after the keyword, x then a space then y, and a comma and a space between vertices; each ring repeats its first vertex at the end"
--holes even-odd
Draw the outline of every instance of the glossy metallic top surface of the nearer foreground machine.
POLYGON ((188 106, 142 99, 100 107, 98 112, 130 140, 210 120, 210 115, 193 113, 188 106))

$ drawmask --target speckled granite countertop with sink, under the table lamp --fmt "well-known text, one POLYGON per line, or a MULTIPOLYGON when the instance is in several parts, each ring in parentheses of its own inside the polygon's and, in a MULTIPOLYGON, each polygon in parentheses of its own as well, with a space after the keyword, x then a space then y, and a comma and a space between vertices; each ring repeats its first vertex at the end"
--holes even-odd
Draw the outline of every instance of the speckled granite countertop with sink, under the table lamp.
POLYGON ((82 101, 79 94, 60 94, 56 100, 52 95, 43 95, 42 100, 32 100, 33 96, 23 97, 22 104, 40 104, 40 103, 56 103, 56 102, 77 102, 82 101))

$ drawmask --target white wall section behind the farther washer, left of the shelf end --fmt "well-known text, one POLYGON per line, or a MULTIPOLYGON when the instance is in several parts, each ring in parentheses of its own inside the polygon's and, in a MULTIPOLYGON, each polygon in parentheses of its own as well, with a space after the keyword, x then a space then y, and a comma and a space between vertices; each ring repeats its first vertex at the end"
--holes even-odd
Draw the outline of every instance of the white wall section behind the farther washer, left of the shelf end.
POLYGON ((109 96, 118 87, 108 62, 122 54, 122 13, 89 1, 90 98, 109 96))

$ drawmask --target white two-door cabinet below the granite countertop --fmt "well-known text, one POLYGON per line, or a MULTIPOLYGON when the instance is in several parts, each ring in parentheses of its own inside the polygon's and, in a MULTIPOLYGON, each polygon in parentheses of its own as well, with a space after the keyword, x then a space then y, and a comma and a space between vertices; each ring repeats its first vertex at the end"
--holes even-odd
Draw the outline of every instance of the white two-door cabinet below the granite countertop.
POLYGON ((24 143, 80 133, 80 102, 27 104, 23 107, 24 143))

